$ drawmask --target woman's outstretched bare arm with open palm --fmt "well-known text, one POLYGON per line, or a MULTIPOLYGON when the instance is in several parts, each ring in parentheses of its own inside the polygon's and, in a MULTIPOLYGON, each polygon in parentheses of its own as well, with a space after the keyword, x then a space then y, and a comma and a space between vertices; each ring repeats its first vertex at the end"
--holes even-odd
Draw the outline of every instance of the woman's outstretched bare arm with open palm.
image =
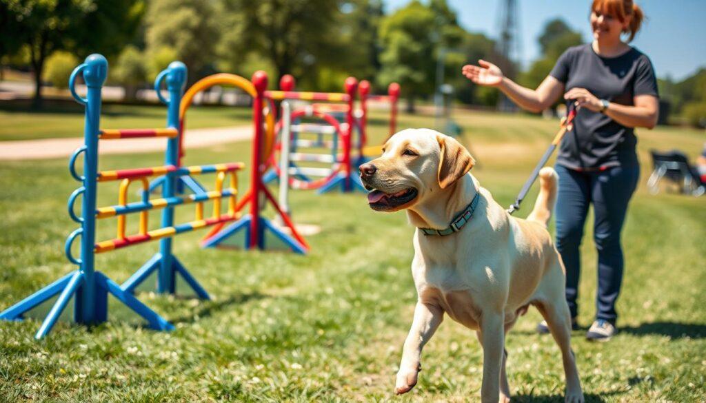
POLYGON ((530 112, 542 112, 550 107, 564 90, 563 83, 552 76, 544 78, 537 90, 531 90, 503 76, 501 69, 492 63, 479 60, 478 64, 480 66, 463 66, 463 75, 476 84, 498 88, 522 109, 530 112))

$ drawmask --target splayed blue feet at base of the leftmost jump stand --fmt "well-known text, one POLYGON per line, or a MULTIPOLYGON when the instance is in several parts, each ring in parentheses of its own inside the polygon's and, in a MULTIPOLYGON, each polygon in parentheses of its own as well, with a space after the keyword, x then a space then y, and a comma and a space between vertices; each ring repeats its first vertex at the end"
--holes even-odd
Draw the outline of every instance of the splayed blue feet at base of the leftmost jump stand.
POLYGON ((42 339, 46 336, 52 327, 56 324, 56 320, 59 319, 61 312, 66 308, 66 304, 75 296, 75 308, 74 308, 74 321, 76 323, 92 324, 92 323, 102 323, 108 318, 108 294, 112 294, 118 301, 124 303, 132 311, 140 315, 142 318, 147 320, 148 327, 154 330, 173 330, 174 326, 167 322, 160 315, 157 315, 155 311, 152 311, 144 303, 140 302, 130 293, 124 291, 120 286, 109 279, 101 272, 94 272, 90 276, 90 280, 87 279, 83 272, 76 270, 68 275, 61 277, 61 279, 56 280, 47 287, 40 289, 34 294, 28 296, 22 301, 16 303, 15 305, 7 308, 5 311, 0 313, 0 319, 4 320, 22 320, 23 315, 30 311, 32 308, 39 306, 44 301, 52 299, 56 294, 59 294, 59 298, 56 299, 52 310, 49 311, 47 317, 44 318, 40 329, 37 330, 35 334, 35 339, 42 339), (84 287, 86 281, 94 282, 94 287, 84 287), (85 304, 88 301, 84 301, 85 298, 89 296, 84 295, 85 288, 92 288, 93 295, 91 303, 85 304), (91 308, 92 318, 83 317, 83 311, 81 308, 88 306, 91 308))

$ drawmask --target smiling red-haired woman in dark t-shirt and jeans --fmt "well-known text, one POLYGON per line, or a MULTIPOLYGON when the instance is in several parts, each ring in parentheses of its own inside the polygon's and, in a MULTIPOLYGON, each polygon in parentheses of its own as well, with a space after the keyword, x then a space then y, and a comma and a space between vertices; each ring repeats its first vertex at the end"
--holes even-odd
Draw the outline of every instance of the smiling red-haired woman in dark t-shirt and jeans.
MULTIPOLYGON (((616 332, 615 304, 623 279, 620 234, 640 174, 633 129, 657 124, 654 69, 645 54, 628 45, 642 17, 632 0, 594 0, 592 43, 564 52, 536 90, 514 83, 487 61, 462 71, 474 83, 498 88, 531 112, 550 107, 562 94, 567 105, 573 102, 577 107, 573 131, 564 136, 556 159, 556 247, 566 266, 566 300, 577 328, 579 246, 592 204, 598 293, 596 320, 586 336, 598 341, 609 340, 616 332)), ((546 323, 537 330, 547 332, 546 323)))

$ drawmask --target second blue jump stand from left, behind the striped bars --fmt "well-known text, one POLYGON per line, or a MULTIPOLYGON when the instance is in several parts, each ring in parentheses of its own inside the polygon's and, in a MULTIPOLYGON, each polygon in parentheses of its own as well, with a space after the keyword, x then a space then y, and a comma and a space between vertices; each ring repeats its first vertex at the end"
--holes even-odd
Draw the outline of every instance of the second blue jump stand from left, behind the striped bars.
MULTIPOLYGON (((166 70, 162 71, 155 79, 155 90, 159 95, 160 100, 167 104, 167 127, 179 128, 179 104, 181 96, 184 94, 184 85, 186 84, 186 66, 181 61, 173 61, 169 64, 166 70), (167 84, 169 91, 169 99, 165 99, 161 95, 162 81, 167 84)), ((165 165, 179 164, 179 136, 167 139, 167 151, 164 153, 165 165)), ((161 178, 162 198, 173 198, 177 195, 179 184, 186 184, 194 193, 204 193, 205 189, 201 187, 190 176, 175 176, 167 174, 161 178), (184 178, 188 179, 184 179, 184 178), (191 186, 194 186, 193 188, 191 186)), ((162 210, 162 228, 174 226, 174 206, 164 207, 162 210)), ((152 256, 135 274, 126 280, 121 285, 121 288, 126 292, 134 292, 136 287, 145 281, 150 275, 157 271, 157 292, 160 294, 176 294, 177 292, 177 274, 186 281, 186 284, 193 289, 196 295, 201 299, 210 299, 208 293, 198 284, 196 279, 189 274, 179 260, 174 257, 172 251, 172 237, 160 239, 160 251, 152 256)))

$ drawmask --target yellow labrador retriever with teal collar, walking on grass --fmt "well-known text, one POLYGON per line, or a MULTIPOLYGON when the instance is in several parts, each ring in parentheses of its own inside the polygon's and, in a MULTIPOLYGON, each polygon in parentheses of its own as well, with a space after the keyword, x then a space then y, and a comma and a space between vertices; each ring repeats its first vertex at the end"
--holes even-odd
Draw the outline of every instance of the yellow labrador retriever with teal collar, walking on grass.
POLYGON ((414 233, 414 320, 402 351, 395 392, 417 384, 421 349, 447 313, 476 330, 483 347, 483 402, 509 402, 505 333, 537 306, 561 349, 566 402, 583 402, 570 344, 564 268, 546 223, 556 198, 554 169, 525 219, 508 215, 469 170, 474 160, 453 138, 429 129, 395 134, 383 155, 361 165, 373 210, 406 209, 414 233))

